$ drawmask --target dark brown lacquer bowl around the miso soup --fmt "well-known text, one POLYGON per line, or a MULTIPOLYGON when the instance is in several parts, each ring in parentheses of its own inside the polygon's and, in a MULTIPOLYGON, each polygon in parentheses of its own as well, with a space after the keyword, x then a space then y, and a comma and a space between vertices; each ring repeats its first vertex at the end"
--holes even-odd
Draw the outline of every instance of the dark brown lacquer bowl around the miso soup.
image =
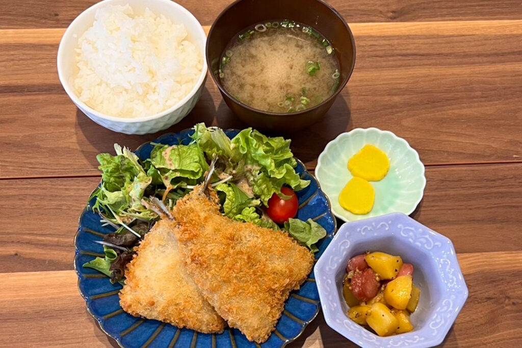
POLYGON ((321 0, 238 0, 223 10, 210 28, 206 47, 210 75, 230 109, 245 123, 268 131, 292 131, 324 116, 346 86, 355 64, 355 42, 346 21, 321 0), (254 109, 235 99, 220 79, 220 62, 227 45, 245 28, 263 21, 291 20, 310 26, 329 41, 339 62, 339 85, 323 102, 298 112, 274 113, 254 109))

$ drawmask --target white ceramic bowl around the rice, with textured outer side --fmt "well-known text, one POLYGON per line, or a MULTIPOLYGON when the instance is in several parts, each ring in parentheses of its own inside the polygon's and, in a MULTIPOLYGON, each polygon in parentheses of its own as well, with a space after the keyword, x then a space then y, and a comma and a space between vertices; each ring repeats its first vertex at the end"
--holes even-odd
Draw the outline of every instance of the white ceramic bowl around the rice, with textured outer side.
POLYGON ((205 31, 196 17, 183 6, 170 0, 103 0, 83 11, 70 23, 65 31, 62 41, 60 42, 60 47, 58 47, 58 77, 60 77, 60 82, 62 82, 62 86, 69 95, 69 98, 76 104, 78 109, 92 119, 92 121, 105 128, 125 134, 155 133, 180 122, 183 117, 191 112, 199 100, 207 79, 207 62, 205 59, 206 40, 205 31), (145 8, 148 7, 155 14, 163 14, 175 23, 183 23, 187 28, 189 40, 198 47, 203 61, 201 75, 194 88, 185 98, 165 111, 137 118, 114 117, 93 110, 78 98, 73 87, 73 80, 76 75, 75 69, 77 69, 74 50, 78 44, 78 38, 92 26, 97 9, 108 5, 126 4, 131 5, 136 14, 143 13, 145 8))

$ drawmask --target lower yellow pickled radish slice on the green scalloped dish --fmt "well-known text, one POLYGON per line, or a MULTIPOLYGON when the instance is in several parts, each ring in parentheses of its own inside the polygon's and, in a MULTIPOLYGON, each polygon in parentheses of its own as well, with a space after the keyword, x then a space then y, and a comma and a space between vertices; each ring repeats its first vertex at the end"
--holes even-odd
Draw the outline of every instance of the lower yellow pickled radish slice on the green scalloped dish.
POLYGON ((373 208, 375 190, 373 186, 360 177, 351 179, 339 195, 339 204, 353 214, 367 214, 373 208))

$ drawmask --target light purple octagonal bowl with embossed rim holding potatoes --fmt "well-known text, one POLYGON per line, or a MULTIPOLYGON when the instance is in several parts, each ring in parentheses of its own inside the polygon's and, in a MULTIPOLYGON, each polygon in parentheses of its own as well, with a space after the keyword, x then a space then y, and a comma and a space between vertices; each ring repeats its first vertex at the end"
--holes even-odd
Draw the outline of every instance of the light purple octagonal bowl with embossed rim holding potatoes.
POLYGON ((432 347, 441 344, 468 298, 453 243, 402 213, 343 224, 317 261, 315 279, 327 324, 350 341, 367 348, 432 347), (379 337, 348 318, 342 281, 348 260, 365 251, 399 255, 414 267, 420 288, 413 331, 379 337))

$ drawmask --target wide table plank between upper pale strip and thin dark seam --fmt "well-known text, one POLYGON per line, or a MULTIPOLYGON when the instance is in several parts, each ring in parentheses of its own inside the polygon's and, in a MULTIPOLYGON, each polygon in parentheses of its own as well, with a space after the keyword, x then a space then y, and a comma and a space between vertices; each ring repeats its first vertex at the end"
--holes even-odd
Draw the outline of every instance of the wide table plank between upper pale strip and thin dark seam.
MULTIPOLYGON (((522 161, 522 20, 352 27, 358 53, 347 88, 322 121, 290 135, 310 169, 342 131, 371 126, 408 139, 426 165, 522 161)), ((0 177, 97 174, 94 157, 114 142, 134 148, 158 136, 115 134, 76 109, 56 72, 63 30, 2 32, 0 144, 17 146, 0 153, 0 177)), ((191 114, 165 131, 196 122, 245 126, 211 79, 191 114)))

